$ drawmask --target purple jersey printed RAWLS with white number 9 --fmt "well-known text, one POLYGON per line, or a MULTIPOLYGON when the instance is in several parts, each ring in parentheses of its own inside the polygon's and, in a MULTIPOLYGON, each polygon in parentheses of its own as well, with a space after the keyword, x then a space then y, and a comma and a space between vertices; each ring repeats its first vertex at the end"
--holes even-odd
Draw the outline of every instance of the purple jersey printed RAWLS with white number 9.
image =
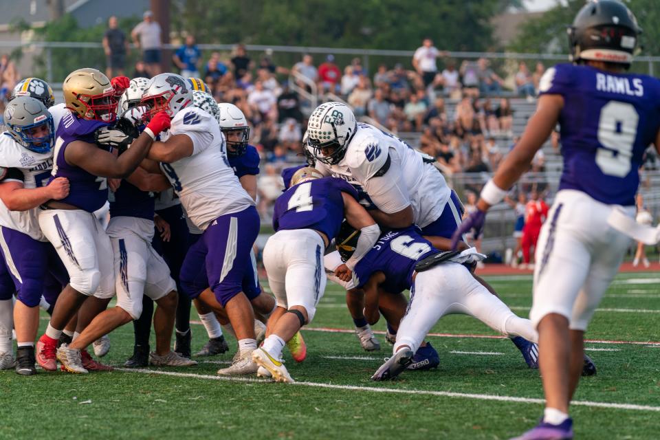
POLYGON ((580 190, 603 203, 634 205, 637 169, 660 126, 660 81, 560 64, 548 69, 539 88, 540 94, 564 98, 559 189, 580 190))

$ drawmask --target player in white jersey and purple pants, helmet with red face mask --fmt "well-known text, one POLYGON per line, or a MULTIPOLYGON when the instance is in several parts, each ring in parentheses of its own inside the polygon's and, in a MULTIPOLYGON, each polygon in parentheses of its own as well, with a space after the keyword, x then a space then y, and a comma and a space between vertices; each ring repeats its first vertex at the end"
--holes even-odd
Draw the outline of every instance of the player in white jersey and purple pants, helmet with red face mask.
POLYGON ((188 87, 176 74, 151 79, 142 103, 149 108, 148 116, 173 118, 171 128, 158 142, 155 136, 138 137, 131 150, 151 146, 148 157, 160 162, 190 221, 203 230, 188 250, 179 277, 190 298, 199 297, 212 309, 224 308, 236 332, 240 357, 218 373, 255 373, 258 367, 251 356, 256 349, 254 313, 242 282, 252 243, 259 234, 259 214, 229 165, 217 120, 190 105, 188 87), (212 292, 203 291, 208 286, 212 292))

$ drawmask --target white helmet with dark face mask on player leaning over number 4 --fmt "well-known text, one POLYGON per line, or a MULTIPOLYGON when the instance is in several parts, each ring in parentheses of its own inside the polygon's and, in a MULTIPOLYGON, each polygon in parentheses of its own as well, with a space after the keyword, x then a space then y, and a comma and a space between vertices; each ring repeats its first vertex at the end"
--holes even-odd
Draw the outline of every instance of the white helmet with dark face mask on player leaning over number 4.
POLYGON ((307 144, 312 155, 325 164, 338 164, 358 129, 353 111, 341 102, 325 102, 316 107, 307 123, 307 144), (331 153, 324 155, 321 150, 331 153))

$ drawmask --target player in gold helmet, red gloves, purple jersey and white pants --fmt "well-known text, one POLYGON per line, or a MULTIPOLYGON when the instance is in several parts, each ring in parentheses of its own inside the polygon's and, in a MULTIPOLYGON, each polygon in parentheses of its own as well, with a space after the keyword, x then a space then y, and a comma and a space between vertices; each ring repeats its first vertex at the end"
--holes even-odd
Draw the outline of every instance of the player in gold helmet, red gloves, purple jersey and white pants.
MULTIPOLYGON (((70 282, 58 297, 45 334, 37 342, 36 360, 48 371, 57 367, 57 340, 76 311, 80 309, 76 325, 80 333, 114 295, 112 246, 92 213, 107 202, 107 177, 131 175, 146 157, 149 146, 138 145, 117 157, 96 145, 94 133, 114 122, 117 98, 128 85, 126 77, 111 81, 89 68, 72 72, 63 83, 69 113, 58 127, 51 179, 67 177, 73 190, 61 200, 41 205, 39 225, 67 267, 70 282)), ((153 130, 164 127, 162 119, 152 124, 153 130)), ((107 369, 91 359, 87 351, 82 356, 85 369, 107 369)))

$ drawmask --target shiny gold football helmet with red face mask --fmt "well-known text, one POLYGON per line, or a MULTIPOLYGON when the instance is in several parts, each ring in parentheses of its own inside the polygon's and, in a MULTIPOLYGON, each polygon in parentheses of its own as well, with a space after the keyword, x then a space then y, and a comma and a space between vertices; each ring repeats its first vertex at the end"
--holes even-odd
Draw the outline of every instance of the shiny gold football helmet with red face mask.
POLYGON ((71 72, 62 85, 67 108, 80 118, 113 122, 117 116, 117 96, 107 76, 96 69, 71 72))

